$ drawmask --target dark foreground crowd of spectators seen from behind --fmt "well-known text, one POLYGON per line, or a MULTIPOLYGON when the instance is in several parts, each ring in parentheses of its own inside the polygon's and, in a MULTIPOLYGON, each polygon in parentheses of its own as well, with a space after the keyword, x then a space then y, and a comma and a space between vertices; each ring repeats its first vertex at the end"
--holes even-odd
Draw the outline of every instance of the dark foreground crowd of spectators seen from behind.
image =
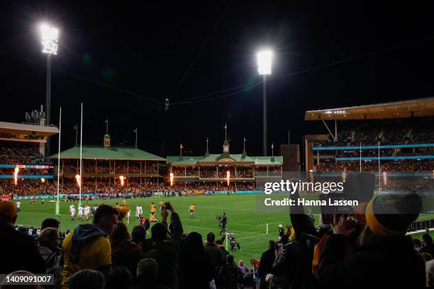
POLYGON ((285 232, 279 226, 279 236, 260 259, 252 256, 248 263, 235 263, 223 245, 224 232, 221 237, 186 232, 170 203, 152 227, 145 221, 129 232, 123 210, 100 205, 92 224, 60 234, 59 222, 48 219, 35 238, 14 227, 16 206, 1 202, 0 246, 7 250, 0 251, 0 259, 8 261, 0 262, 0 274, 50 273, 54 288, 72 289, 432 288, 433 239, 406 236, 421 199, 412 193, 374 197, 372 176, 366 177, 357 174, 348 181, 349 195, 362 192, 352 217, 321 218, 315 227, 311 216, 294 206, 291 227, 285 232))

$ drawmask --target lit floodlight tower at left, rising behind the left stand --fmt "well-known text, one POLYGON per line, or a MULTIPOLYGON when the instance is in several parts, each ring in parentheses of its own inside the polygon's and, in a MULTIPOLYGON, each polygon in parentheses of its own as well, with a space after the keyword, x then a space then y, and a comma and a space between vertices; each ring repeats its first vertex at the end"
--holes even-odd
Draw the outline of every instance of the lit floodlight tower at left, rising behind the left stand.
MULTIPOLYGON (((51 55, 57 55, 57 40, 59 30, 48 23, 40 24, 40 40, 43 45, 42 52, 47 55, 47 87, 45 95, 45 124, 50 125, 51 113, 51 55)), ((50 154, 50 137, 47 138, 46 154, 50 154)))

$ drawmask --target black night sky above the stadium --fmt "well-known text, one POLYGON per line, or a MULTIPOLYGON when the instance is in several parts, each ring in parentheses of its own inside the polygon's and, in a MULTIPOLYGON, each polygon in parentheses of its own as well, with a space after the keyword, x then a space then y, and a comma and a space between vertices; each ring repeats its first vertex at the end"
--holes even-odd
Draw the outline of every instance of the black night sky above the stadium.
POLYGON ((209 137, 219 153, 227 123, 231 152, 241 152, 245 137, 247 153, 261 154, 262 84, 246 88, 261 81, 262 47, 275 53, 269 144, 286 143, 288 130, 301 143, 327 133, 304 121, 306 110, 434 95, 433 2, 378 2, 0 1, 0 120, 24 121, 45 103, 45 20, 60 28, 52 123, 62 106, 62 149, 74 145, 83 102, 86 145, 102 145, 108 118, 112 145, 134 145, 137 127, 149 152, 179 154, 182 142, 187 154, 204 154, 209 137), (236 86, 245 91, 196 98, 236 86))

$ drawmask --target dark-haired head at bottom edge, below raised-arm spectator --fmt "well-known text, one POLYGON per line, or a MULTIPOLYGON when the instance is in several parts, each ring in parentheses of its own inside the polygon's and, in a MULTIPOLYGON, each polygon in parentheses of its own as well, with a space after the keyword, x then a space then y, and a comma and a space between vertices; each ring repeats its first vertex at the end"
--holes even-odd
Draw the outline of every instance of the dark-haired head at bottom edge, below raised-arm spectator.
POLYGON ((139 261, 137 264, 137 280, 138 284, 134 287, 137 289, 155 288, 169 289, 166 285, 157 283, 158 263, 155 259, 146 258, 139 261))

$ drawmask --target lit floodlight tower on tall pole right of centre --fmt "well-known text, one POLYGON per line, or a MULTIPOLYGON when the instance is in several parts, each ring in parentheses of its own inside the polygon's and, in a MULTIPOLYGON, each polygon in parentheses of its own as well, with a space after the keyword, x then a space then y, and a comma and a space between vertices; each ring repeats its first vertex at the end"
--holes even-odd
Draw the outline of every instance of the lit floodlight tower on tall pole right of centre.
POLYGON ((271 74, 272 68, 271 50, 257 52, 257 72, 262 75, 262 149, 264 156, 267 155, 267 75, 271 74))

